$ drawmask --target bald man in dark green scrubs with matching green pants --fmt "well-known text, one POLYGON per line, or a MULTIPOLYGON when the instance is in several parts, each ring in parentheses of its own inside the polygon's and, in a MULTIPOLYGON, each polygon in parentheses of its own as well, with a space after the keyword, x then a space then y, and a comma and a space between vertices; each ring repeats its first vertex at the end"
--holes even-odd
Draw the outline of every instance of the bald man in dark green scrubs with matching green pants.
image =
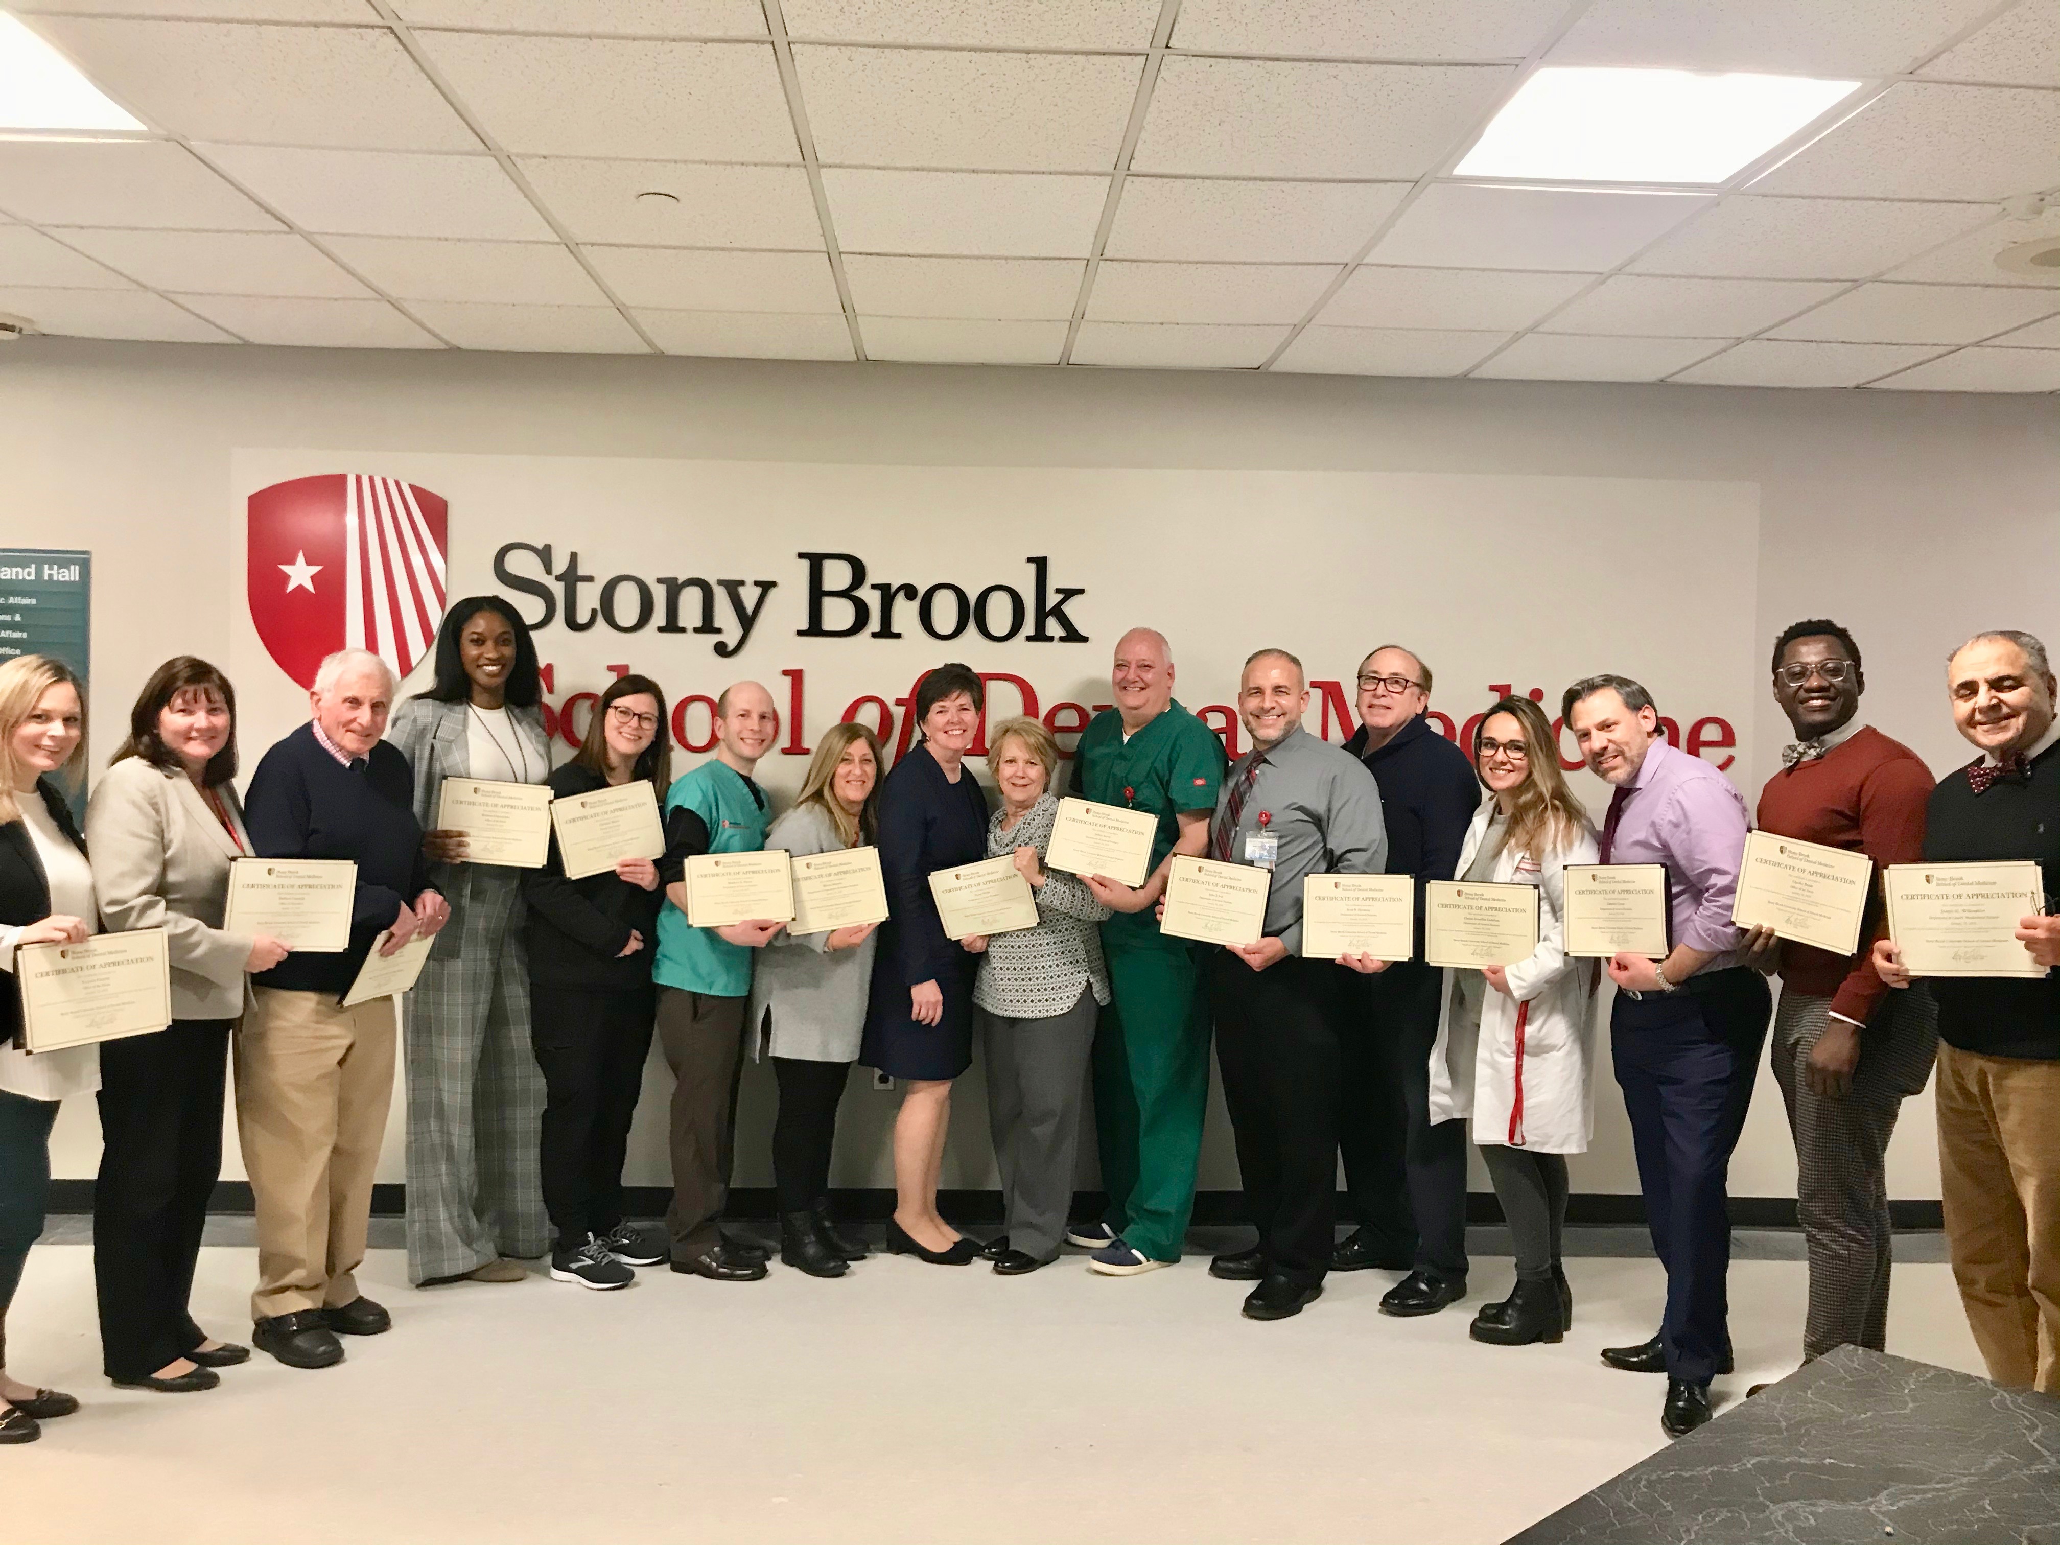
POLYGON ((1184 939, 1160 933, 1154 904, 1172 853, 1203 855, 1224 781, 1224 744, 1172 700, 1172 649, 1152 628, 1117 641, 1117 707, 1073 752, 1073 793, 1158 816, 1152 873, 1137 890, 1082 876, 1114 917, 1102 954, 1114 1001, 1094 1036, 1094 1117, 1108 1213, 1067 1230, 1094 1248, 1090 1271, 1129 1277, 1180 1259, 1209 1104, 1209 1009, 1184 939))

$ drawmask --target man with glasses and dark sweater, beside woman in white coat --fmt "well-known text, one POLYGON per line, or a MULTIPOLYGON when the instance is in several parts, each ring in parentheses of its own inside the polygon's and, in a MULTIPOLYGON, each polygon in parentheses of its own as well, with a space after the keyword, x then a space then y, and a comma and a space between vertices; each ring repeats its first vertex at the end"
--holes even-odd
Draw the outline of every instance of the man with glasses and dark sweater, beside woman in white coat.
POLYGON ((1384 1314, 1436 1314, 1467 1296, 1467 1123, 1430 1121, 1430 1049, 1444 972, 1423 964, 1423 882, 1452 880, 1481 785, 1467 754, 1430 727, 1430 665, 1401 645, 1360 663, 1360 729, 1345 750, 1380 785, 1388 873, 1415 876, 1417 958, 1364 985, 1343 1040, 1339 1149, 1358 1230, 1333 1271, 1409 1275, 1384 1314))

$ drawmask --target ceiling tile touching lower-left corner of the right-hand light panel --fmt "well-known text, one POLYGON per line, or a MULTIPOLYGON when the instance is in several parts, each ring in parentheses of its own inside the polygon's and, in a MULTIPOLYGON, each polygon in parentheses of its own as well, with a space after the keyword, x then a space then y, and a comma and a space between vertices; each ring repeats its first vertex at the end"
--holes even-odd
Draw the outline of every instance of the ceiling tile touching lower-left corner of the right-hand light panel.
POLYGON ((1409 183, 1265 183, 1129 177, 1110 258, 1345 262, 1403 202, 1409 183))

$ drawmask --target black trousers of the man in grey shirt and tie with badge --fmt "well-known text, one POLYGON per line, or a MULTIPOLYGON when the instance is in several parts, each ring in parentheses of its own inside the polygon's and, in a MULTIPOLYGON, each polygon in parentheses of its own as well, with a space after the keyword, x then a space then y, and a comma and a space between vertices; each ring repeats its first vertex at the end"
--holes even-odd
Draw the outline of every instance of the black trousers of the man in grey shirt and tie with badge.
POLYGON ((1337 1234, 1345 976, 1300 956, 1252 970, 1228 950, 1205 974, 1244 1205, 1269 1271, 1302 1285, 1323 1281, 1337 1234))

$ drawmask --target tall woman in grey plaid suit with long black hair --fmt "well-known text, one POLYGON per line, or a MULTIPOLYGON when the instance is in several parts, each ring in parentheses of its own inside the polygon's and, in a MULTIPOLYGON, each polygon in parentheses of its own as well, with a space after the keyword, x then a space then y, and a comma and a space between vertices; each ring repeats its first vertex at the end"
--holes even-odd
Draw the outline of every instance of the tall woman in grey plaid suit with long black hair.
POLYGON ((468 832, 439 820, 449 779, 544 783, 540 696, 521 616, 499 595, 470 595, 437 630, 435 686, 400 705, 387 731, 414 770, 422 851, 451 904, 408 997, 408 1279, 418 1288, 521 1281, 529 1273, 507 1257, 544 1255, 548 1242, 523 871, 476 861, 468 832))

